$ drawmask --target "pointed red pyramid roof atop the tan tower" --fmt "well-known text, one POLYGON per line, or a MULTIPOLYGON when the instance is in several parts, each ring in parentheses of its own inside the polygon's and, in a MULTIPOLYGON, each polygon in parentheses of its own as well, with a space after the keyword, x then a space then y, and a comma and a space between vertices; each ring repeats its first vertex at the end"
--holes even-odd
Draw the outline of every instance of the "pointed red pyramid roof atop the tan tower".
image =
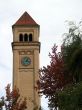
POLYGON ((39 26, 33 18, 27 13, 24 14, 16 21, 13 26, 39 26))

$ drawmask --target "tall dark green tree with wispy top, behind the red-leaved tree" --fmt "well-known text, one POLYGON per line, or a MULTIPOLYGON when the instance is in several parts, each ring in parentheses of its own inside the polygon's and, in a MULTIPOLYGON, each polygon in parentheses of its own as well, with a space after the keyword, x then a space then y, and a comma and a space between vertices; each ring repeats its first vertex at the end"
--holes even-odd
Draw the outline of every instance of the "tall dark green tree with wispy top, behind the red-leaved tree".
POLYGON ((74 22, 69 22, 69 24, 69 32, 65 34, 61 52, 65 68, 68 69, 73 82, 76 83, 82 80, 82 34, 79 30, 81 22, 80 26, 76 26, 74 22))

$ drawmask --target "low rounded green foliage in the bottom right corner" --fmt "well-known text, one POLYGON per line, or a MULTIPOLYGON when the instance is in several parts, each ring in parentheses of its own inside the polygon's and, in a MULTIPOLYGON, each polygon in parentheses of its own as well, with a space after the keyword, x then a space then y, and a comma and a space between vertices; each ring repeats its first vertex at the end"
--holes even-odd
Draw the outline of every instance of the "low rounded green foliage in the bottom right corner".
POLYGON ((82 110, 82 82, 64 88, 58 99, 59 110, 82 110))

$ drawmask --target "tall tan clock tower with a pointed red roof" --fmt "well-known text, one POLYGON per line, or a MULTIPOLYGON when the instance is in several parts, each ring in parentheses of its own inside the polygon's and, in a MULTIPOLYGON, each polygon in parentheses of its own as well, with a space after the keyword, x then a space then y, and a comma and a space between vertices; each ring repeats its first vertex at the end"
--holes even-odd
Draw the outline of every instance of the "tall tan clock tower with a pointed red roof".
POLYGON ((40 97, 35 87, 39 79, 40 26, 25 12, 12 26, 13 86, 27 98, 28 110, 39 110, 40 97))

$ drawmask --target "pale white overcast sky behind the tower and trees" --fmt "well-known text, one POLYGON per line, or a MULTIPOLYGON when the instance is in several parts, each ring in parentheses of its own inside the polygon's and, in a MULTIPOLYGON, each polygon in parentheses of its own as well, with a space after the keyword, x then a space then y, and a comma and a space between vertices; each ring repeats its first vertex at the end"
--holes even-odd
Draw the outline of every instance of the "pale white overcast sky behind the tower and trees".
MULTIPOLYGON (((50 62, 48 54, 52 46, 61 45, 65 21, 82 20, 82 0, 0 0, 0 96, 5 86, 12 83, 12 25, 25 11, 40 25, 42 67, 50 62)), ((42 103, 44 110, 45 103, 42 103)))

